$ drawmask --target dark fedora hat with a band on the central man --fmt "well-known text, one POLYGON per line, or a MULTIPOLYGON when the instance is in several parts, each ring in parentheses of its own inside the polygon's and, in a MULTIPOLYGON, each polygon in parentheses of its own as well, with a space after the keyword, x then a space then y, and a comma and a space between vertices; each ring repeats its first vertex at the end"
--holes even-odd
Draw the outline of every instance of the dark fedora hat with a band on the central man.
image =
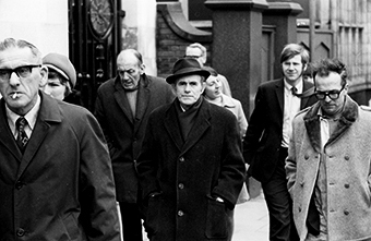
POLYGON ((166 82, 172 84, 179 77, 192 74, 198 74, 204 76, 205 79, 210 76, 210 72, 207 70, 203 70, 196 59, 179 59, 173 64, 172 74, 166 79, 166 82))

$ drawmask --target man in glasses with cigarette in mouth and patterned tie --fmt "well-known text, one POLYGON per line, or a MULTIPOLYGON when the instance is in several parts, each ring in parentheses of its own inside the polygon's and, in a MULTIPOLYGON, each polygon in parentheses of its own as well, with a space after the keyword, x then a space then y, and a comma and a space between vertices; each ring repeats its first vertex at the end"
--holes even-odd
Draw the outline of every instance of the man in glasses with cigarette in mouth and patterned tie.
POLYGON ((41 62, 25 40, 0 43, 0 239, 119 241, 103 131, 39 89, 41 62))

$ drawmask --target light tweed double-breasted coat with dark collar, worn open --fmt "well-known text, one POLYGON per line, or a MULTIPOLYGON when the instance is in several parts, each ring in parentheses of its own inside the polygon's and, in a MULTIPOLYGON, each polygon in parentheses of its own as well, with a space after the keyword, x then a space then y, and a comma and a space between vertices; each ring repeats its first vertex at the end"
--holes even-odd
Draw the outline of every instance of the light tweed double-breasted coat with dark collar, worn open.
MULTIPOLYGON (((320 104, 294 119, 286 159, 288 189, 300 240, 321 158, 320 104)), ((322 153, 326 166, 327 232, 331 241, 371 238, 371 112, 346 99, 338 125, 322 153)))

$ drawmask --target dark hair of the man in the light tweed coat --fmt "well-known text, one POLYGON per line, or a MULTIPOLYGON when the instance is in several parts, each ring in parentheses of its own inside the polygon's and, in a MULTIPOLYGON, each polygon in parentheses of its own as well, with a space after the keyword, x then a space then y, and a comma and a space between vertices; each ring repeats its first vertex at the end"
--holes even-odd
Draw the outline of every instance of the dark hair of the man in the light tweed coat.
POLYGON ((315 76, 328 76, 331 72, 338 73, 342 77, 342 86, 347 84, 348 74, 347 68, 338 59, 322 59, 312 64, 314 84, 315 76))

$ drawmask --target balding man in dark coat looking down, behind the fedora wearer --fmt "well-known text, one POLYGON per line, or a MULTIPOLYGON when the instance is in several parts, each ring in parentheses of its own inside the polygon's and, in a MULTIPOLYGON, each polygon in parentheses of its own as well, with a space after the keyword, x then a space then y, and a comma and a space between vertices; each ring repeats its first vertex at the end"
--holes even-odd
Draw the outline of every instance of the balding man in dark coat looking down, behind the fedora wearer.
POLYGON ((95 115, 111 156, 124 240, 143 240, 135 162, 148 115, 173 98, 165 80, 145 74, 142 55, 135 49, 118 55, 117 76, 98 89, 95 115))

